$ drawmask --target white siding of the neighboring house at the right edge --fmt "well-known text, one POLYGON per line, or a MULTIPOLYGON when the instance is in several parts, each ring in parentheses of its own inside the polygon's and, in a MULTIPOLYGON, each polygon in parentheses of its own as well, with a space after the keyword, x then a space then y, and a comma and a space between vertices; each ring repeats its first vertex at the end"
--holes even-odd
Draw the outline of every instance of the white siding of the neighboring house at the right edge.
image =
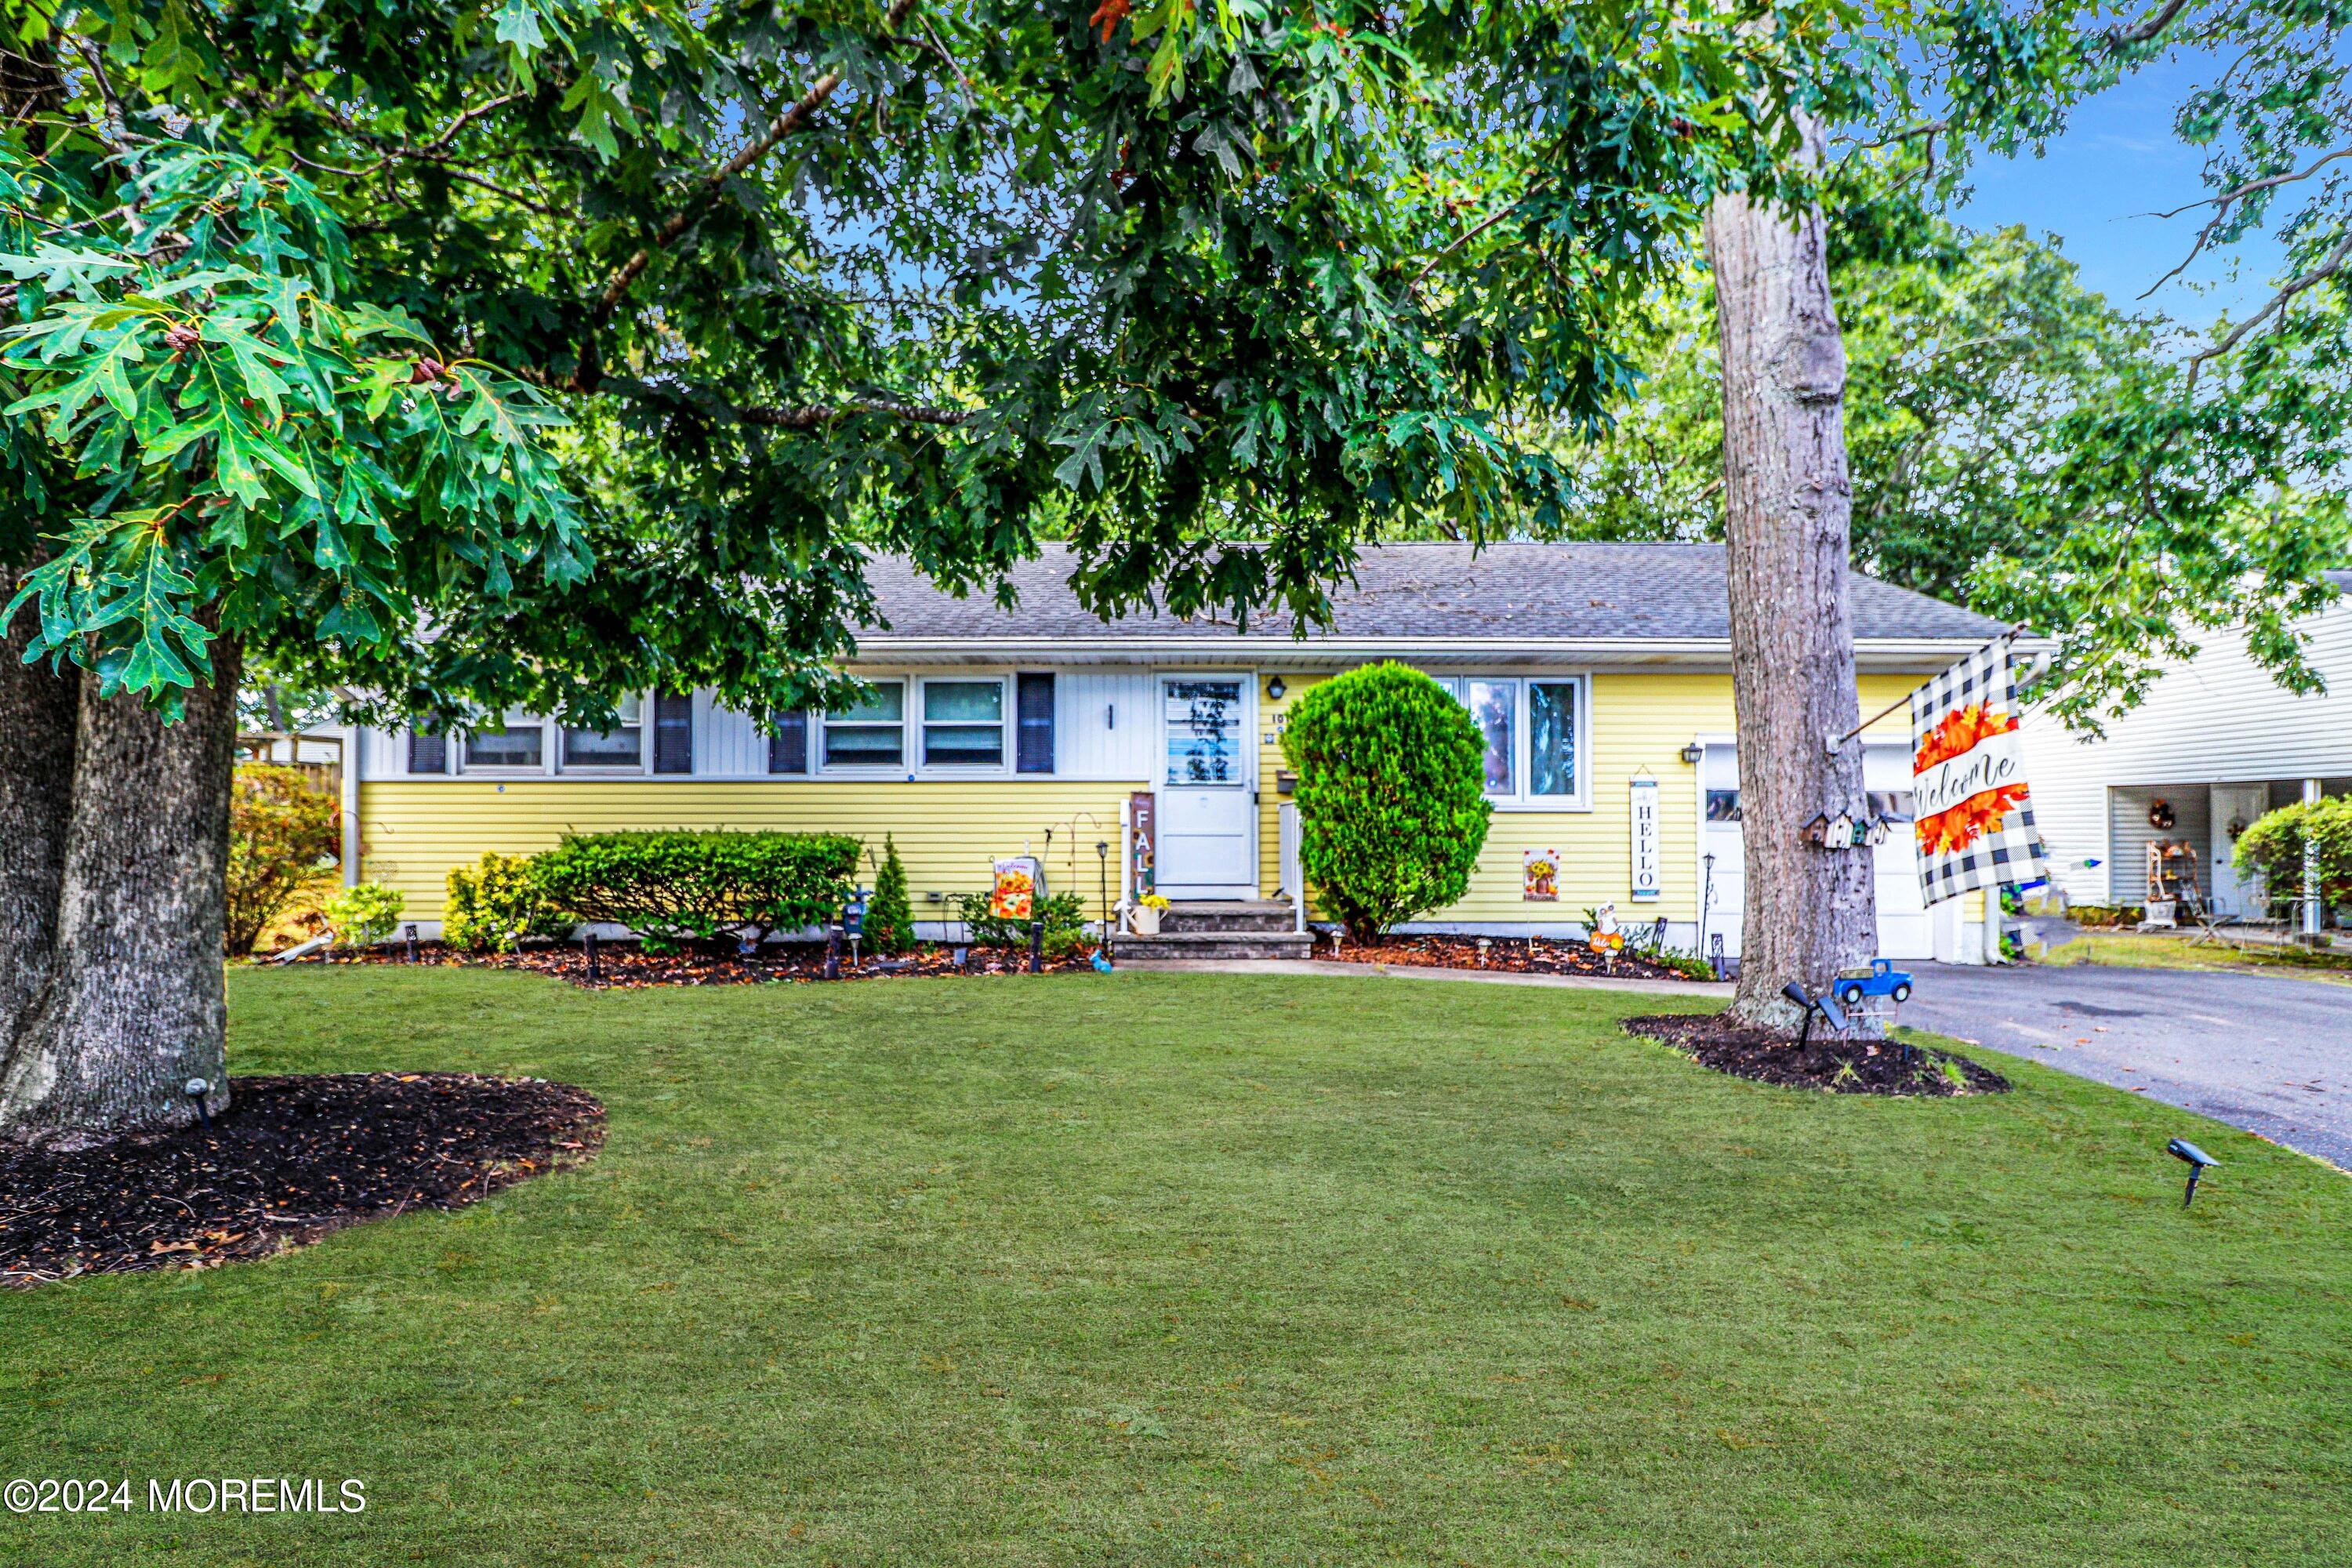
POLYGON ((2324 696, 2286 691, 2246 656, 2244 637, 2225 632, 2197 658, 2173 663, 2145 703, 2107 722, 2100 741, 2074 736, 2044 712, 2025 717, 2034 823, 2067 898, 2145 896, 2140 846, 2154 837, 2152 795, 2169 799, 2180 818, 2169 837, 2190 839, 2204 858, 2204 785, 2352 776, 2352 602, 2312 616, 2305 632, 2312 668, 2328 686, 2324 696), (2110 790, 2131 790, 2117 797, 2112 820, 2110 790))

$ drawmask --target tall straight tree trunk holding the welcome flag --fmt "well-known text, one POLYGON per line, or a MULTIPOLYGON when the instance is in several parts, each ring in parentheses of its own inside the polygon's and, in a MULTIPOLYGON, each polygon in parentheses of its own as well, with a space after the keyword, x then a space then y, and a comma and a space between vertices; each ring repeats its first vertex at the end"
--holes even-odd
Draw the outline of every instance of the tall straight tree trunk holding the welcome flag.
MULTIPOLYGON (((1804 158, 1820 162, 1806 122, 1804 158)), ((1731 691, 1738 705, 1748 903, 1733 1016, 1792 1027, 1780 994, 1828 990, 1877 952, 1872 851, 1816 849, 1816 813, 1863 813, 1863 748, 1828 741, 1860 722, 1846 588, 1846 348, 1830 301, 1818 205, 1797 212, 1726 193, 1708 209, 1724 360, 1724 550, 1731 691)))

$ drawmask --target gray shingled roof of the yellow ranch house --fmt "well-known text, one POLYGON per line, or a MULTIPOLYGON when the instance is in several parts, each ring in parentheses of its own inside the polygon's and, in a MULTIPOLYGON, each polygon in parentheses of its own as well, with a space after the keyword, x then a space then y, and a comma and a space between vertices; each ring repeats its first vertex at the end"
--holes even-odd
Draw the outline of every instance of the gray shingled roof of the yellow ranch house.
MULTIPOLYGON (((985 595, 941 592, 898 557, 875 559, 889 630, 861 642, 997 637, 1230 637, 1223 621, 1136 614, 1103 623, 1070 592, 1061 545, 1014 569, 1016 609, 985 595)), ((1355 585, 1331 595, 1334 628, 1348 639, 1526 637, 1526 639, 1729 639, 1722 545, 1510 543, 1381 545, 1362 552, 1355 585)), ((1254 635, 1287 637, 1287 616, 1251 623, 1254 635)), ((1907 588, 1853 578, 1856 637, 1999 635, 2002 623, 1907 588)))

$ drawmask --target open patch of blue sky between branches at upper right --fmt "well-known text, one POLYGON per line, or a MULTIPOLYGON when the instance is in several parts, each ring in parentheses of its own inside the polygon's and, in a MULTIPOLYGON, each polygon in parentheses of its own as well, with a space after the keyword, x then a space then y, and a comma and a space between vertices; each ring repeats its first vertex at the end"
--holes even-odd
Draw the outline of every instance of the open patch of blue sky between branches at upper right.
POLYGON ((2190 249, 2204 214, 2164 221, 2143 216, 2204 195, 2201 148, 2173 134, 2180 99, 2209 80, 2213 61, 2157 61, 2077 108, 2065 136, 2044 158, 1980 158, 1973 200, 1955 212, 1976 228, 2025 223, 2056 235, 2082 268, 2084 284, 2126 310, 2164 310, 2204 327, 2223 308, 2244 315, 2270 299, 2279 247, 2253 235, 2230 256, 2206 256, 2147 301, 2136 296, 2190 249))

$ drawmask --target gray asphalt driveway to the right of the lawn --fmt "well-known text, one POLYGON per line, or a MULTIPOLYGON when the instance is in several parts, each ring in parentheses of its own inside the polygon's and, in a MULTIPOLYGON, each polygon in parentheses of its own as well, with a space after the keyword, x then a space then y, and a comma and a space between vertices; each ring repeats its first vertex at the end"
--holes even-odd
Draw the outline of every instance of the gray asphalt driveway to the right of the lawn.
POLYGON ((1919 964, 1903 1023, 2204 1112, 2352 1171, 2352 985, 1919 964))

